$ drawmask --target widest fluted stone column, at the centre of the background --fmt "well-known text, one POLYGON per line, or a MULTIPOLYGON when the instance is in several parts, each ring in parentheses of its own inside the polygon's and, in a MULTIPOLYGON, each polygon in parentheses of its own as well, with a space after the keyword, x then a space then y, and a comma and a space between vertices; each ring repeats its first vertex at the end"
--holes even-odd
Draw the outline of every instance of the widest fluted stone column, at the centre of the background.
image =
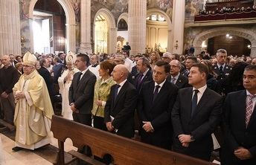
POLYGON ((144 53, 146 48, 147 1, 129 0, 128 3, 129 54, 144 53))

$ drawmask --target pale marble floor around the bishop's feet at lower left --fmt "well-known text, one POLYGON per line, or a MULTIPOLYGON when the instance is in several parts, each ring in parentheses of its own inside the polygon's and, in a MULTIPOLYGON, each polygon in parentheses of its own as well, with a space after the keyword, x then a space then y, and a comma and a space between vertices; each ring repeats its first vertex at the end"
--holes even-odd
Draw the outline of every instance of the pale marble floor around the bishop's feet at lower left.
MULTIPOLYGON (((13 152, 14 141, 11 134, 0 133, 0 165, 50 165, 54 162, 57 156, 57 139, 51 135, 51 145, 44 146, 45 149, 38 149, 37 151, 21 150, 13 152), (9 138, 8 138, 9 137, 9 138)), ((76 150, 72 145, 70 139, 65 140, 65 152, 71 149, 76 150)))

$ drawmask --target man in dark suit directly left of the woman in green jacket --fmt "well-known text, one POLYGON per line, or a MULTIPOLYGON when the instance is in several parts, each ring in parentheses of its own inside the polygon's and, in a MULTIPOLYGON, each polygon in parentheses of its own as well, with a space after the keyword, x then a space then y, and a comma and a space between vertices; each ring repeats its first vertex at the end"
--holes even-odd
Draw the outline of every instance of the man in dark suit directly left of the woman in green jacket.
POLYGON ((73 111, 74 121, 92 126, 92 105, 95 90, 96 77, 88 69, 89 56, 77 54, 75 62, 80 72, 74 74, 69 88, 68 99, 73 111))

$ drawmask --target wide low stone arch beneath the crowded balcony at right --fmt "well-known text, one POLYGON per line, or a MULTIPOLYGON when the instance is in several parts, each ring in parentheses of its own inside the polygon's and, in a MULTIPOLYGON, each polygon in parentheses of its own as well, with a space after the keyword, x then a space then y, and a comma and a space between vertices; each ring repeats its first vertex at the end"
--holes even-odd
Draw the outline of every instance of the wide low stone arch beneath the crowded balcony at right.
POLYGON ((215 36, 223 36, 227 33, 232 36, 240 36, 244 39, 248 39, 252 44, 251 56, 256 56, 256 33, 253 33, 251 30, 232 27, 213 28, 211 30, 206 30, 196 35, 192 43, 193 47, 195 48, 195 54, 199 54, 201 52, 202 42, 206 39, 211 39, 215 36))

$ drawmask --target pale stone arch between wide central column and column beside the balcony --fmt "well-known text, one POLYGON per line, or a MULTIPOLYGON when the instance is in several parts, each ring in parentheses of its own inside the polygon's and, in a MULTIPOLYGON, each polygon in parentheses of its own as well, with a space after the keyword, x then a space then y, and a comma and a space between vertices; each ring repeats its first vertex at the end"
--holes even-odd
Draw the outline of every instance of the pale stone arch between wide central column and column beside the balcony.
POLYGON ((150 15, 153 15, 153 14, 161 14, 161 16, 164 16, 164 19, 166 20, 167 22, 167 26, 168 26, 168 38, 167 38, 167 51, 169 52, 172 52, 172 43, 173 43, 173 25, 172 25, 172 22, 170 20, 170 17, 167 16, 166 13, 164 13, 164 11, 162 10, 159 10, 159 9, 149 9, 147 10, 147 17, 150 16, 150 15))

